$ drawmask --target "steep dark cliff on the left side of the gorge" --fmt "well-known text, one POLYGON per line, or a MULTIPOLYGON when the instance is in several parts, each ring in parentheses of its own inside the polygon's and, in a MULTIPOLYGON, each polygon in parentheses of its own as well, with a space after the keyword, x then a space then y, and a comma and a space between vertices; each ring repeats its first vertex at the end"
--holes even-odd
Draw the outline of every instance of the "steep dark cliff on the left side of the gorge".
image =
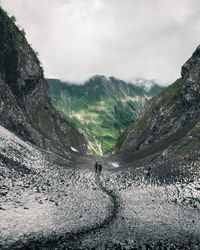
POLYGON ((0 125, 43 149, 85 152, 86 143, 51 104, 36 53, 0 8, 0 125))

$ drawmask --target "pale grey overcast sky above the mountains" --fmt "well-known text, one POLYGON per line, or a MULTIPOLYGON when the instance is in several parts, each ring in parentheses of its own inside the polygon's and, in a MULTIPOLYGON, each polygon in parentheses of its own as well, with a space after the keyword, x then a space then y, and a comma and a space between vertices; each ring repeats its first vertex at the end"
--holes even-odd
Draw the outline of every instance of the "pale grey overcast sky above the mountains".
POLYGON ((46 77, 94 74, 170 84, 200 43, 199 0, 1 0, 46 77))

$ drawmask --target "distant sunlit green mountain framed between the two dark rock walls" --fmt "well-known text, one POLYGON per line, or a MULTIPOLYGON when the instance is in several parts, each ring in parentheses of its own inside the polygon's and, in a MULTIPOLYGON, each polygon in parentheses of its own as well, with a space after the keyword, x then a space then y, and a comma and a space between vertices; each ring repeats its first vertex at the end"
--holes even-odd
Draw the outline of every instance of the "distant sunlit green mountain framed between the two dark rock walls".
POLYGON ((53 104, 87 138, 88 152, 108 154, 115 148, 120 131, 137 117, 145 101, 162 88, 155 83, 127 84, 114 77, 94 76, 83 85, 48 79, 53 104))

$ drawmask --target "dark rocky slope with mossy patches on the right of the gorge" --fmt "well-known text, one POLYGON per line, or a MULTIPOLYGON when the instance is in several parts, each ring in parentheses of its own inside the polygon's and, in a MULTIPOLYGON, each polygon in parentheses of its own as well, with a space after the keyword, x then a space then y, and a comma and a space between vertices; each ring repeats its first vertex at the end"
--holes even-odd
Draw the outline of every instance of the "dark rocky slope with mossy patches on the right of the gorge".
POLYGON ((180 153, 200 146, 200 46, 183 65, 181 78, 145 105, 120 140, 120 151, 127 151, 124 156, 131 159, 142 150, 144 157, 156 151, 180 153))

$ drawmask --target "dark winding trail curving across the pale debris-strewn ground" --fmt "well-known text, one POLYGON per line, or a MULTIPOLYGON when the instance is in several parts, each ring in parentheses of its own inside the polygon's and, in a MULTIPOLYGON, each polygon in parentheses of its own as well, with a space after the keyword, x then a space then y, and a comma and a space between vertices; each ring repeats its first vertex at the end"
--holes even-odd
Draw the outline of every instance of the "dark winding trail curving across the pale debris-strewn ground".
MULTIPOLYGON (((64 234, 54 234, 48 238, 41 237, 39 239, 30 239, 25 244, 17 241, 11 247, 12 249, 79 249, 79 242, 83 237, 89 234, 95 234, 101 229, 110 225, 116 219, 119 209, 120 202, 119 197, 112 191, 107 190, 101 182, 100 176, 97 174, 95 177, 96 184, 107 196, 109 196, 111 201, 111 206, 109 208, 109 215, 101 222, 92 226, 87 226, 80 228, 75 232, 64 233, 64 234), (64 248, 63 248, 64 247, 64 248)), ((82 249, 82 248, 81 248, 82 249)))

